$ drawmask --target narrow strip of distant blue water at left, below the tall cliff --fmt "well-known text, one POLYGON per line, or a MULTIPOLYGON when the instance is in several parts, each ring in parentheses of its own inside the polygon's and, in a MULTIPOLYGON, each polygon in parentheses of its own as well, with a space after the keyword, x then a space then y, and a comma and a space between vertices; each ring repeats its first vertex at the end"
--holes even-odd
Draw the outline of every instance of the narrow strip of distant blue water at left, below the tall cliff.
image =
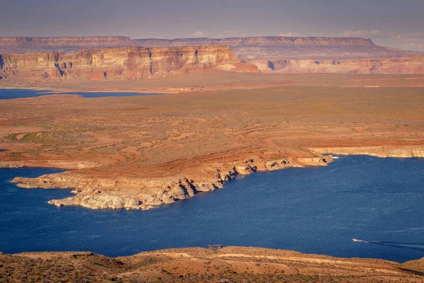
POLYGON ((13 98, 29 98, 37 96, 47 96, 51 94, 78 94, 85 98, 98 98, 106 96, 148 96, 157 95, 160 93, 121 93, 121 92, 67 92, 67 93, 52 93, 51 91, 34 91, 32 89, 4 89, 0 88, 0 99, 13 99, 13 98))

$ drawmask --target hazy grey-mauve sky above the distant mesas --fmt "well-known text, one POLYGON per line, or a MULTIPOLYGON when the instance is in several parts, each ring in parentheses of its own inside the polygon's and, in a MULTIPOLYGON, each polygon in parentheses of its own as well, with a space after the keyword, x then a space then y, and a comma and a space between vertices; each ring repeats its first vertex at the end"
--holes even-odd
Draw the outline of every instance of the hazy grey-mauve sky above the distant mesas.
POLYGON ((357 36, 424 51, 424 0, 8 0, 0 36, 357 36))

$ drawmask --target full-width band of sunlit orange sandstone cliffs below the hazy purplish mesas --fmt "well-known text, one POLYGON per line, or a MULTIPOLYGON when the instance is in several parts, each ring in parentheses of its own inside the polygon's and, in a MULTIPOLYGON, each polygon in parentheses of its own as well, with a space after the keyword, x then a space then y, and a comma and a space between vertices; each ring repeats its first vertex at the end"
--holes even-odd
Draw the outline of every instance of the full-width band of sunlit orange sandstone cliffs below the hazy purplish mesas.
POLYGON ((216 68, 264 73, 424 74, 424 57, 377 59, 243 60, 229 47, 122 47, 63 52, 0 54, 0 79, 150 79, 216 68))

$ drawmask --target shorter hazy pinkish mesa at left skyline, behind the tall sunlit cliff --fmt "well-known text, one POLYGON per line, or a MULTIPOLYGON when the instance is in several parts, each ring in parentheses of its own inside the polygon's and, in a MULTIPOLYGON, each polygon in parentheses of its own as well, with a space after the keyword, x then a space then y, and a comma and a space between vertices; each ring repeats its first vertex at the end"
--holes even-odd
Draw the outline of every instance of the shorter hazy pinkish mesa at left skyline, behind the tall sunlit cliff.
POLYGON ((95 37, 0 37, 1 52, 72 52, 86 48, 129 47, 135 42, 126 36, 95 37))

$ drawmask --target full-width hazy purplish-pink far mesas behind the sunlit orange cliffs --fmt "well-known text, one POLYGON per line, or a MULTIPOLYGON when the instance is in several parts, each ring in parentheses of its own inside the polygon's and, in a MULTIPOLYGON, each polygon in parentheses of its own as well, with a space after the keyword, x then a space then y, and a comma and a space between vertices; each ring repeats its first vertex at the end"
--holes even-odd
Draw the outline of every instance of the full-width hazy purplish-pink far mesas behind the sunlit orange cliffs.
POLYGON ((66 52, 105 47, 227 46, 244 59, 358 59, 423 56, 424 52, 396 50, 360 37, 230 37, 136 39, 129 37, 0 37, 0 53, 66 52))

